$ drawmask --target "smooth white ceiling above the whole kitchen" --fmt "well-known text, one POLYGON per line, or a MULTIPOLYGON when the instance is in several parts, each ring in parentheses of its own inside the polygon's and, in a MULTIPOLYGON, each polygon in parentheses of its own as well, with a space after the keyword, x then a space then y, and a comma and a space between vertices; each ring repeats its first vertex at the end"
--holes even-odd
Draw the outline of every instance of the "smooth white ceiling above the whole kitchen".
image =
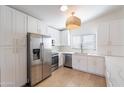
POLYGON ((70 5, 66 12, 60 11, 60 5, 11 5, 10 7, 44 20, 48 25, 61 30, 65 28, 66 19, 71 15, 71 12, 75 12, 75 16, 78 16, 82 22, 86 22, 121 6, 70 5))

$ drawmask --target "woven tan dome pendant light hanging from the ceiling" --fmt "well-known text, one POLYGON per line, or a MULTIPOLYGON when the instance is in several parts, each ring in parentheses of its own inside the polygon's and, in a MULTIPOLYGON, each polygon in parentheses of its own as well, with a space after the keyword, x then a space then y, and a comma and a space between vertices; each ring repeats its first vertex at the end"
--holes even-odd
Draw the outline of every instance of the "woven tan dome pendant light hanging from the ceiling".
POLYGON ((66 21, 66 28, 68 30, 77 29, 81 26, 81 20, 74 16, 74 12, 72 12, 72 16, 70 16, 66 21))

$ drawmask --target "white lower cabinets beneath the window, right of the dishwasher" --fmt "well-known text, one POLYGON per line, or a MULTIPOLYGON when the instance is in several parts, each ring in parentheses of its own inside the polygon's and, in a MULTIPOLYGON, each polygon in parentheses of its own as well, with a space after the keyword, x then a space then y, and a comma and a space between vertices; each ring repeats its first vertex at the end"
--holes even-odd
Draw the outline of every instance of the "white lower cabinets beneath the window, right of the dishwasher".
POLYGON ((104 76, 104 57, 89 55, 72 55, 72 68, 96 75, 104 76))

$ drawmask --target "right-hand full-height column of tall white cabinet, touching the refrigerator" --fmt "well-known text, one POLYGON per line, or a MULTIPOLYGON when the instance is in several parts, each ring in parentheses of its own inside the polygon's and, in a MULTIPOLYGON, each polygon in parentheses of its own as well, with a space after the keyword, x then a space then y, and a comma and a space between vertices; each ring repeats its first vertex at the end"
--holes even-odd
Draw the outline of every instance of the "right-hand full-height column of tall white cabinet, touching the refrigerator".
POLYGON ((27 82, 27 15, 15 11, 15 86, 25 85, 27 82))

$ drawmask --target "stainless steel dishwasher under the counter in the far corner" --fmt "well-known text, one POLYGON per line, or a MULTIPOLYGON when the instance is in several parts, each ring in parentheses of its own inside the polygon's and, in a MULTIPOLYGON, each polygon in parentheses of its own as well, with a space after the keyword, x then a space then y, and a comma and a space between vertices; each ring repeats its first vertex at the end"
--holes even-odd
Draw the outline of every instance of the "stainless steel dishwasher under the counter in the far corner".
POLYGON ((64 54, 64 66, 72 68, 72 54, 64 54))

